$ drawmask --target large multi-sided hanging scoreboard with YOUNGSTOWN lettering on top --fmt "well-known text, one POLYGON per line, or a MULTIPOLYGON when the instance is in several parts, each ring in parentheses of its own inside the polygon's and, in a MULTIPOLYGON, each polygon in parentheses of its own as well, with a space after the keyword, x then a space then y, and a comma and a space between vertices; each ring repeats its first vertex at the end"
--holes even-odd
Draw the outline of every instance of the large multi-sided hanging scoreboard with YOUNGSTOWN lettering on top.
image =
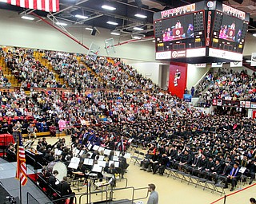
POLYGON ((242 61, 249 14, 204 1, 154 14, 157 60, 185 63, 242 61))

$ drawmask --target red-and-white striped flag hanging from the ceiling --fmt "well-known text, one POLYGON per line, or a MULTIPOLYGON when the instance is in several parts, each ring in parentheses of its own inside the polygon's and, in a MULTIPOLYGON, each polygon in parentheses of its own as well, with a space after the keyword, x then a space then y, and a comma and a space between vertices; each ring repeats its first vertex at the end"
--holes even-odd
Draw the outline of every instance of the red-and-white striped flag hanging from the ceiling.
POLYGON ((7 0, 7 3, 31 10, 56 12, 59 10, 59 0, 7 0))

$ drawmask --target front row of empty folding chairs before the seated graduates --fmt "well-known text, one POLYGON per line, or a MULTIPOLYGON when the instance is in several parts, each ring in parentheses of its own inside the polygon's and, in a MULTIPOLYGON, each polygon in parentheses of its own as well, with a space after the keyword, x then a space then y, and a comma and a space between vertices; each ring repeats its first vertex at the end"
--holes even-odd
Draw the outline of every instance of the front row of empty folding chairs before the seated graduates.
POLYGON ((200 171, 193 167, 182 167, 186 171, 180 171, 178 169, 166 167, 167 177, 172 176, 173 179, 181 179, 181 182, 187 182, 187 184, 194 184, 195 187, 201 186, 203 190, 209 189, 211 193, 218 192, 221 195, 225 194, 226 177, 219 177, 218 175, 209 174, 207 171, 200 171), (212 178, 206 179, 206 178, 212 178), (216 182, 217 179, 219 182, 216 182))

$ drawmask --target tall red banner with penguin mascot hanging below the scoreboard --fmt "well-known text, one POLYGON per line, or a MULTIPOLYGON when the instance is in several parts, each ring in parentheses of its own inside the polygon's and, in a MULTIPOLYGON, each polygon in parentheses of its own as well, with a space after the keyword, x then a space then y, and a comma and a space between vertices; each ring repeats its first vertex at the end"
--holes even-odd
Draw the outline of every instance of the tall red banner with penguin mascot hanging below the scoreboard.
POLYGON ((170 64, 169 92, 179 98, 183 98, 186 88, 187 66, 183 63, 170 64))

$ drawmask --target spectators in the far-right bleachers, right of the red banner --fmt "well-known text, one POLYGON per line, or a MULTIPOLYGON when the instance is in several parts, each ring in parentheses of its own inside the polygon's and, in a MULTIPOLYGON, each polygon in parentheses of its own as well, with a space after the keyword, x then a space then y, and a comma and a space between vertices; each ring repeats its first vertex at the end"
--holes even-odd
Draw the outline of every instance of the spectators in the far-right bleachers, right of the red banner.
POLYGON ((218 69, 218 72, 207 75, 195 92, 195 95, 199 96, 198 104, 202 107, 210 107, 213 99, 254 102, 256 101, 256 74, 250 75, 246 69, 241 72, 218 69), (205 92, 202 93, 203 90, 205 92))

